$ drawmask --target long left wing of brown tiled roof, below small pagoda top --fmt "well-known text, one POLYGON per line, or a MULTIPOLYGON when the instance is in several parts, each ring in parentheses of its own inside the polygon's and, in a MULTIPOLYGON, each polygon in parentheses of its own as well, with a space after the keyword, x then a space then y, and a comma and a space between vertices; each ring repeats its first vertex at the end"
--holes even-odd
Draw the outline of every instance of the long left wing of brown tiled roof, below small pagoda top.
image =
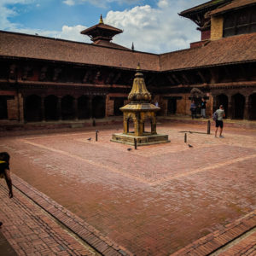
POLYGON ((132 69, 140 62, 143 70, 160 69, 159 55, 14 32, 0 32, 0 55, 132 69))

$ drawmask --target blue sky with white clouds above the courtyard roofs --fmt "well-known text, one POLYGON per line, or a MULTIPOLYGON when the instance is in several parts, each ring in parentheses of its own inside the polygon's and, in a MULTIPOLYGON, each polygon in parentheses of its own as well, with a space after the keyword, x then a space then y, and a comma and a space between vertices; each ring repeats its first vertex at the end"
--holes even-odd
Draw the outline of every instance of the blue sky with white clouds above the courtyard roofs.
POLYGON ((177 15, 207 0, 0 0, 0 30, 91 43, 80 32, 99 23, 124 32, 113 43, 165 53, 200 41, 195 23, 177 15))

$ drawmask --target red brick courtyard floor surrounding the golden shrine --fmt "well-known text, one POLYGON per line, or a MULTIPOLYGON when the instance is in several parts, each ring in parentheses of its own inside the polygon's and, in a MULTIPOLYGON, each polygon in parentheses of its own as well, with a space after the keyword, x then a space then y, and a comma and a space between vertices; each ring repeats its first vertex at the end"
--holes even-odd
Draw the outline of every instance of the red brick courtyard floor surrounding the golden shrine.
POLYGON ((131 151, 109 142, 117 130, 1 137, 0 149, 17 176, 137 255, 174 253, 255 209, 256 130, 187 133, 189 148, 180 131, 206 127, 160 125, 171 143, 131 151))

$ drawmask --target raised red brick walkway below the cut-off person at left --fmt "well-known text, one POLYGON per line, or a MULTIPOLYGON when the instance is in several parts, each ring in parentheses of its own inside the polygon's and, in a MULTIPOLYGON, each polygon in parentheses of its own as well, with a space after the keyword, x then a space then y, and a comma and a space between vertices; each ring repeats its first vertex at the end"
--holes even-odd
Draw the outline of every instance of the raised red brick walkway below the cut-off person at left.
POLYGON ((14 192, 10 200, 7 189, 0 184, 0 230, 18 255, 96 255, 26 196, 16 189, 14 192))

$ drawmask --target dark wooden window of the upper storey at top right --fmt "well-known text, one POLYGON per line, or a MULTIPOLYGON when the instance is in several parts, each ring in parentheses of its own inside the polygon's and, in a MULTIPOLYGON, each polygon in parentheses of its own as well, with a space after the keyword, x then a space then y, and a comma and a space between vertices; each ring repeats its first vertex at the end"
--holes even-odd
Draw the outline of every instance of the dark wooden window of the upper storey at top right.
POLYGON ((224 37, 256 32, 256 7, 224 15, 224 37))

